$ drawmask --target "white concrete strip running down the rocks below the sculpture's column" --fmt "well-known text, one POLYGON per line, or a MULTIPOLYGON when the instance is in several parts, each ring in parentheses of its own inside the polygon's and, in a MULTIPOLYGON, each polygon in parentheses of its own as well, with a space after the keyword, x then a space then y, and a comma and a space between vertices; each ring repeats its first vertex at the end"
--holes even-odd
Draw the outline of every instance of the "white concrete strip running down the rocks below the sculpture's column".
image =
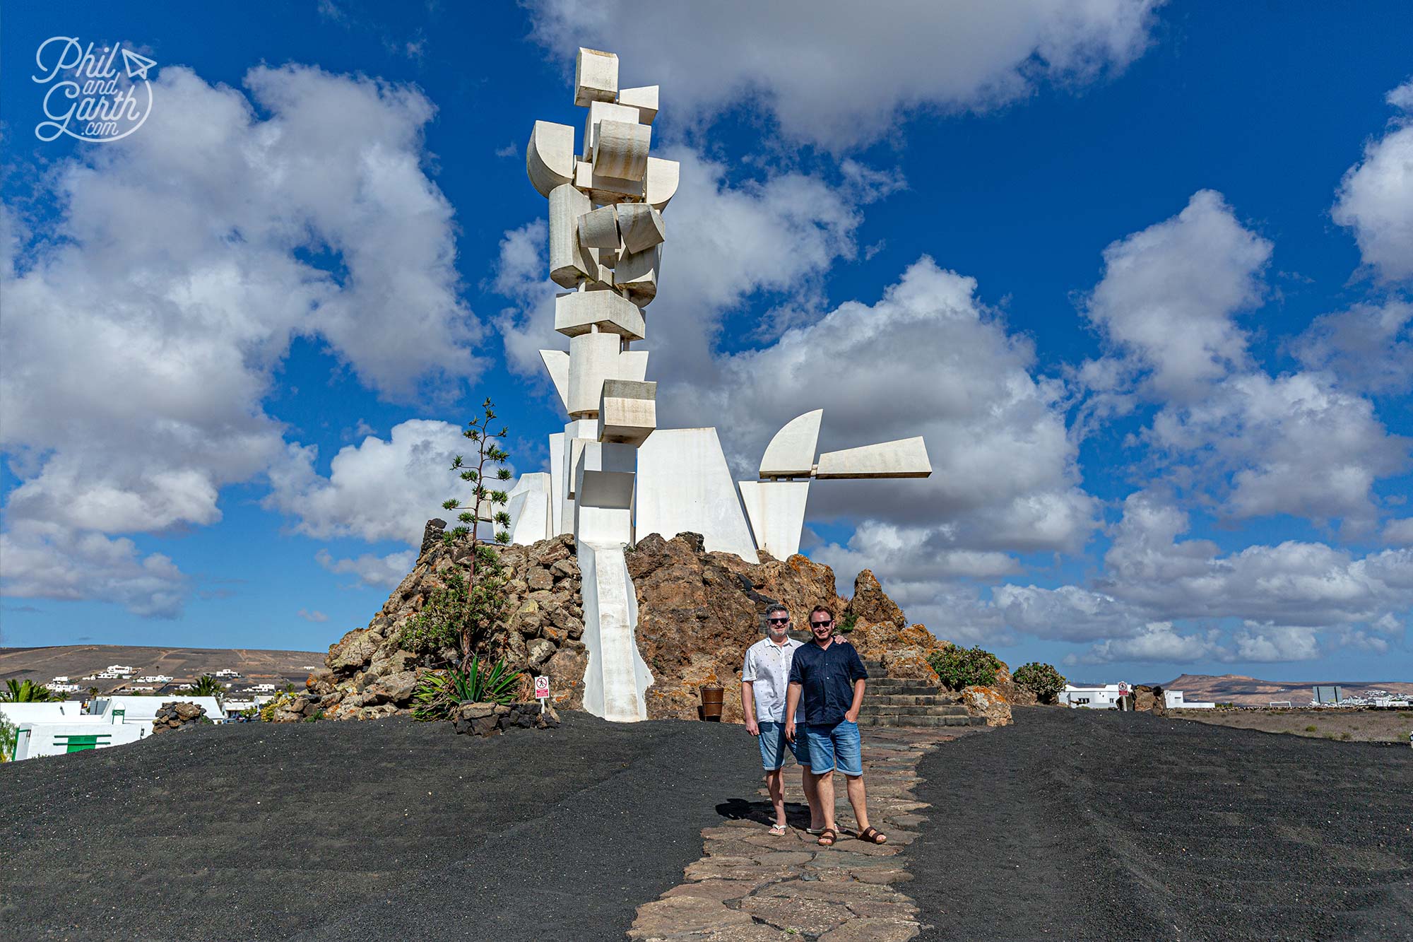
POLYGON ((637 593, 623 547, 579 540, 584 591, 584 709, 613 723, 647 719, 653 673, 637 651, 637 593))

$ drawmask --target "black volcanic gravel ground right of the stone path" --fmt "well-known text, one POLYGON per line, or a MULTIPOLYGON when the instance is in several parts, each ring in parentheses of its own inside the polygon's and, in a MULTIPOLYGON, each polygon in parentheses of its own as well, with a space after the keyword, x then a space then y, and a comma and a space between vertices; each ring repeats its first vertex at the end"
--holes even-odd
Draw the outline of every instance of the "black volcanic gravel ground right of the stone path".
POLYGON ((1031 707, 924 757, 923 939, 1413 939, 1413 750, 1031 707))

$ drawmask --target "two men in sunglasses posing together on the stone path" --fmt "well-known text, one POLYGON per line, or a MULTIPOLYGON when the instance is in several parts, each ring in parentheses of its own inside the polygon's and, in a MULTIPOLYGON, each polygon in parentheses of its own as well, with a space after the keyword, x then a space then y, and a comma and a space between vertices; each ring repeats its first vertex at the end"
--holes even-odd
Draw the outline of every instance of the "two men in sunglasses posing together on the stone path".
POLYGON ((740 673, 746 730, 760 740, 766 789, 776 812, 770 833, 787 832, 783 767, 788 748, 803 769, 810 833, 820 835, 820 844, 828 847, 838 840, 836 768, 848 782, 859 839, 882 844, 887 839, 869 826, 858 727, 868 670, 853 645, 835 636, 828 608, 818 605, 810 612, 812 642, 791 639, 788 629, 790 612, 773 605, 766 612, 766 638, 746 651, 740 673))

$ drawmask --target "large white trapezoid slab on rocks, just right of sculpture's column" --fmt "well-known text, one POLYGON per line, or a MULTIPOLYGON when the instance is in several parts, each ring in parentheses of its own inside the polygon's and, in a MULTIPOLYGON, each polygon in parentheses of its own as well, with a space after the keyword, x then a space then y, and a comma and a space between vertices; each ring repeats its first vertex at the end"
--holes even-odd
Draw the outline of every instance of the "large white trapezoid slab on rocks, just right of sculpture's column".
POLYGON ((658 429, 637 450, 637 532, 701 533, 708 550, 756 559, 715 429, 658 429))

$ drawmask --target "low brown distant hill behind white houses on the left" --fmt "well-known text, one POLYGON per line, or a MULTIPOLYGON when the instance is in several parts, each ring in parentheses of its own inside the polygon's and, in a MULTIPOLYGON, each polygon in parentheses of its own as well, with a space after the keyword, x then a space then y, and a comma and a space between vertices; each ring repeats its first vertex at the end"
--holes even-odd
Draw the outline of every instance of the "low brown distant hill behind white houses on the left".
POLYGON ((203 673, 239 670, 226 678, 236 690, 246 685, 273 683, 304 686, 309 668, 324 666, 322 651, 259 651, 250 648, 138 648, 130 645, 57 645, 52 648, 0 648, 0 683, 34 680, 48 683, 66 676, 81 687, 110 693, 131 680, 81 680, 109 665, 134 668, 133 676, 167 675, 172 683, 189 683, 203 673))

